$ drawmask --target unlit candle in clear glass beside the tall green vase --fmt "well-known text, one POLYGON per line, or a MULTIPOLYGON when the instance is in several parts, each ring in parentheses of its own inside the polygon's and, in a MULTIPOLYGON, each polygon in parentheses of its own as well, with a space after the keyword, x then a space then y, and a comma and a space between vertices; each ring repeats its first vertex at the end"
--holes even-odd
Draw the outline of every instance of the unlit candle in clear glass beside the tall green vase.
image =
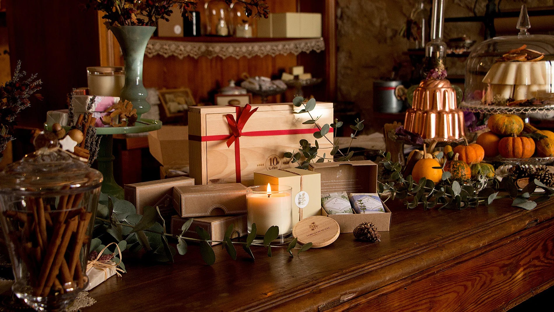
POLYGON ((125 85, 125 70, 121 66, 86 67, 89 94, 119 97, 125 85))

